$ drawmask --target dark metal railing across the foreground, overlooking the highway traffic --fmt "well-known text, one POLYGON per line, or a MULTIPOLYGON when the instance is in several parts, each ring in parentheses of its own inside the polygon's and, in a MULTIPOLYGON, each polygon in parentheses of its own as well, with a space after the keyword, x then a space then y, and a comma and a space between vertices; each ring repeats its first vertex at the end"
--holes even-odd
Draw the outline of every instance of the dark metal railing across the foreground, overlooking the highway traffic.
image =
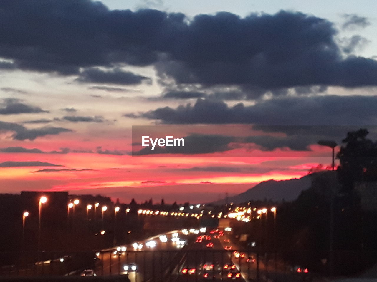
MULTIPOLYGON (((240 274, 240 280, 257 282, 295 282, 315 277, 310 270, 308 273, 304 272, 305 266, 298 272, 282 256, 275 256, 274 253, 260 255, 239 251, 237 255, 237 252, 183 248, 77 252, 68 255, 35 253, 35 257, 43 257, 43 260, 0 267, 0 281, 78 281, 85 269, 92 269, 97 274, 97 277, 85 277, 93 281, 128 281, 127 276, 131 277, 132 282, 228 280, 232 271, 240 274), (212 264, 212 269, 205 267, 208 263, 212 264), (125 265, 129 266, 128 271, 124 268, 125 265), (136 266, 136 270, 130 269, 132 265, 136 266), (225 267, 226 265, 228 267, 225 267), (187 268, 195 268, 195 272, 187 274, 183 271, 187 268), (208 275, 204 277, 206 273, 208 275), (208 277, 210 279, 207 279, 208 277)), ((20 261, 23 261, 22 257, 20 261)))

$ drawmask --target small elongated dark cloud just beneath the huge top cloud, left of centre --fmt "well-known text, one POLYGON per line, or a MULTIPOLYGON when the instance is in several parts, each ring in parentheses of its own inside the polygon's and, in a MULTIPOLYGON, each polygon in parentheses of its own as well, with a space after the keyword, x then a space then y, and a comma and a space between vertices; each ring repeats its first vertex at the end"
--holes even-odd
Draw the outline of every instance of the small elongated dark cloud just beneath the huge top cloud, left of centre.
POLYGON ((123 71, 120 68, 112 70, 101 70, 99 68, 88 68, 80 73, 76 79, 79 82, 111 83, 134 85, 142 82, 151 83, 152 80, 146 76, 140 76, 130 71, 123 71))

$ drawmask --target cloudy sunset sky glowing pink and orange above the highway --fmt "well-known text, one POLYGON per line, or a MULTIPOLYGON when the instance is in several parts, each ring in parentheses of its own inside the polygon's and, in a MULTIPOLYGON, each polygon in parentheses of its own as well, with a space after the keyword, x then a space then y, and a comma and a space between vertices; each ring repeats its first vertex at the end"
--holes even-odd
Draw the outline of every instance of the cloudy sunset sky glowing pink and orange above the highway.
POLYGON ((373 6, 0 3, 0 193, 210 202, 329 167, 318 140, 377 136, 373 6), (135 126, 190 146, 151 153, 135 126))

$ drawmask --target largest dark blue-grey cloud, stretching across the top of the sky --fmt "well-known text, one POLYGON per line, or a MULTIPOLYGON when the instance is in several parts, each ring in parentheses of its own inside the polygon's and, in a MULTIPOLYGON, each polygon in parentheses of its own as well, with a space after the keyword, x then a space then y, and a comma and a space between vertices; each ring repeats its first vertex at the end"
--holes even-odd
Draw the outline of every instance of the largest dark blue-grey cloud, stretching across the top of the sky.
MULTIPOLYGON (((356 15, 346 19, 347 28, 368 24, 356 15)), ((79 71, 128 64, 155 65, 160 77, 178 83, 377 85, 375 60, 343 58, 333 24, 298 12, 245 18, 221 12, 188 20, 156 10, 109 10, 89 0, 18 0, 0 3, 0 26, 1 57, 24 70, 84 81, 128 82, 124 74, 114 78, 95 70, 80 78, 79 71)))

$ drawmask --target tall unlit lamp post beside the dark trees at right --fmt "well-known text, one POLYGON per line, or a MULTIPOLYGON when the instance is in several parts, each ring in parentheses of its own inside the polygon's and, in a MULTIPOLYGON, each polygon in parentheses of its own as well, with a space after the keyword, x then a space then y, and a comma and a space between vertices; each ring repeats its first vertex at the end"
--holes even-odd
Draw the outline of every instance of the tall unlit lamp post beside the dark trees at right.
MULTIPOLYGON (((333 154, 332 154, 332 157, 333 157, 333 163, 332 163, 332 171, 335 170, 335 147, 338 145, 335 141, 331 141, 331 140, 319 140, 317 142, 317 144, 319 145, 322 145, 322 146, 326 146, 326 147, 330 147, 331 149, 333 149, 333 154)), ((331 185, 331 189, 330 189, 330 246, 329 246, 329 249, 330 249, 330 253, 329 253, 329 270, 330 270, 330 274, 333 274, 333 268, 334 268, 334 259, 333 259, 333 251, 334 251, 334 190, 335 190, 335 174, 333 172, 333 177, 332 177, 332 180, 333 180, 333 183, 331 185)))

